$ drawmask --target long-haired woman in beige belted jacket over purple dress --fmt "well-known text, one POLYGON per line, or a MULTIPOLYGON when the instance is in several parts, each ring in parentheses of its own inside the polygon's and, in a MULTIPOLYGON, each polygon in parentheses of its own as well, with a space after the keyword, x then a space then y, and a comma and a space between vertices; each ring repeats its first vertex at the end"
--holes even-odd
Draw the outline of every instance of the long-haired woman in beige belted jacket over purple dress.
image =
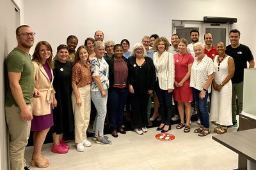
POLYGON ((40 41, 33 53, 35 90, 33 100, 33 120, 31 131, 34 132, 34 149, 31 166, 48 167, 50 162, 41 154, 42 145, 50 127, 53 125, 52 101, 56 104, 52 86, 54 62, 52 48, 46 41, 40 41))

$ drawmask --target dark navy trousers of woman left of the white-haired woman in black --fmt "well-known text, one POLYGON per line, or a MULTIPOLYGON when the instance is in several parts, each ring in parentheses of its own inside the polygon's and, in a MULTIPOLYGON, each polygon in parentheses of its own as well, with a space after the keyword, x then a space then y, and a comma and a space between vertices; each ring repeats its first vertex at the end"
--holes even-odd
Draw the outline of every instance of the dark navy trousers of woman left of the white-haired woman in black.
POLYGON ((108 94, 108 116, 111 131, 116 131, 122 126, 127 96, 127 88, 113 88, 108 94))

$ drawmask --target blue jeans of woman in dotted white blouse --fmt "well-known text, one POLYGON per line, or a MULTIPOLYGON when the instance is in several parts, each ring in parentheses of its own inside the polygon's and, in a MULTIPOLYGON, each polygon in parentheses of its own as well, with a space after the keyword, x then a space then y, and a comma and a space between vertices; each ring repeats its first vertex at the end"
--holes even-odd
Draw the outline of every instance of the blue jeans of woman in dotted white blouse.
POLYGON ((209 96, 208 90, 205 93, 204 99, 199 98, 200 90, 197 90, 195 88, 192 88, 193 97, 196 102, 196 111, 198 113, 198 116, 200 118, 201 125, 205 127, 206 129, 209 129, 209 113, 207 110, 207 98, 209 96))

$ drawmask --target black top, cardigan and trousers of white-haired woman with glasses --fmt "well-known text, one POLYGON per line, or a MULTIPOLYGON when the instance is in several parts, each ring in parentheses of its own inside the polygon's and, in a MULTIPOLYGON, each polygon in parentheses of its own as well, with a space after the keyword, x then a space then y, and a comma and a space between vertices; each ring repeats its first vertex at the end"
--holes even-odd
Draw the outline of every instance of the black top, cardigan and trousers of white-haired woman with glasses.
POLYGON ((128 81, 134 93, 131 94, 131 127, 141 129, 146 127, 148 90, 154 90, 156 83, 156 70, 152 59, 145 57, 145 62, 138 66, 136 57, 128 59, 128 81))

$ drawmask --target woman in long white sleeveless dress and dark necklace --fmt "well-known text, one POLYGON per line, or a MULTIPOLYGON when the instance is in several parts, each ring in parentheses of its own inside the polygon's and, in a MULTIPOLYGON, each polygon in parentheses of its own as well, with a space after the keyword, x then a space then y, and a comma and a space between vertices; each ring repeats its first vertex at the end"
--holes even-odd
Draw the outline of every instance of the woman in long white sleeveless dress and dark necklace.
POLYGON ((212 100, 210 121, 217 121, 218 127, 214 132, 224 134, 228 125, 232 125, 232 82, 235 65, 234 59, 225 53, 226 46, 223 42, 217 43, 219 55, 214 57, 214 80, 212 81, 212 100))

